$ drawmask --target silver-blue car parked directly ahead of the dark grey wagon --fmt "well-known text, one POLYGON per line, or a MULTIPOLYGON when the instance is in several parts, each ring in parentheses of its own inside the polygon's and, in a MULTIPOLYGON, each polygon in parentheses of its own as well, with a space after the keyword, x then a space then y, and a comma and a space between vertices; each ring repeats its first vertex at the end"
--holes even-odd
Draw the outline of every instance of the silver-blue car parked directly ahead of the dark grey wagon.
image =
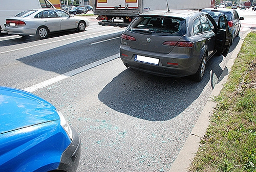
POLYGON ((227 8, 225 9, 224 8, 218 8, 218 9, 204 8, 201 11, 210 14, 217 23, 218 23, 218 18, 221 14, 226 15, 229 31, 232 34, 231 44, 233 43, 234 38, 239 36, 240 28, 241 28, 240 20, 243 20, 244 17, 239 17, 238 12, 236 10, 227 9, 227 8))

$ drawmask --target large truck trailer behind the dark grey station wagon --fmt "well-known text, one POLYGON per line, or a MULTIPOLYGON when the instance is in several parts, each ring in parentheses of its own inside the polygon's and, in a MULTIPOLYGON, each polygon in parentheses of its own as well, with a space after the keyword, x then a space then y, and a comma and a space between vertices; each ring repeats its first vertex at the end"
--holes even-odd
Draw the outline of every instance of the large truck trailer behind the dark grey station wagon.
POLYGON ((99 25, 127 27, 136 17, 146 11, 200 10, 211 6, 211 0, 94 0, 94 15, 98 15, 99 25))

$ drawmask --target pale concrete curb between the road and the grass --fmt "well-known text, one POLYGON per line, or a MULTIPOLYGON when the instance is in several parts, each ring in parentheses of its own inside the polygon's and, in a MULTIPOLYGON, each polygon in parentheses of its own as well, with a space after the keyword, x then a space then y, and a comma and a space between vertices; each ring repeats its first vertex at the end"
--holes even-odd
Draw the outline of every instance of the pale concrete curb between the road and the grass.
POLYGON ((204 106, 204 109, 195 124, 195 127, 187 137, 185 144, 183 145, 180 153, 175 159, 169 172, 188 171, 188 167, 191 165, 195 155, 197 154, 197 151, 200 145, 200 140, 203 137, 203 135, 206 133, 206 130, 208 128, 209 117, 214 111, 214 108, 216 107, 216 103, 212 101, 212 97, 219 95, 221 89, 223 88, 223 85, 227 82, 229 72, 231 71, 231 67, 234 64, 234 60, 236 60, 237 55, 240 52, 242 43, 244 42, 244 38, 250 32, 251 31, 248 31, 242 36, 242 38, 238 42, 238 45, 232 52, 231 57, 226 64, 226 67, 224 68, 216 86, 214 87, 214 90, 212 90, 211 95, 209 96, 209 99, 207 100, 204 106))

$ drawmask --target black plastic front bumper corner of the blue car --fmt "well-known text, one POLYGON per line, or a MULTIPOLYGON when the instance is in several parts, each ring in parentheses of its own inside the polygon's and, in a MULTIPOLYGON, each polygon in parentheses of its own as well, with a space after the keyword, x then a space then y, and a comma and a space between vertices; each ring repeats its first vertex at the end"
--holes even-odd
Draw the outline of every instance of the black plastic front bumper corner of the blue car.
POLYGON ((73 139, 61 156, 58 170, 75 172, 78 167, 81 156, 80 138, 78 133, 73 128, 72 132, 73 139))

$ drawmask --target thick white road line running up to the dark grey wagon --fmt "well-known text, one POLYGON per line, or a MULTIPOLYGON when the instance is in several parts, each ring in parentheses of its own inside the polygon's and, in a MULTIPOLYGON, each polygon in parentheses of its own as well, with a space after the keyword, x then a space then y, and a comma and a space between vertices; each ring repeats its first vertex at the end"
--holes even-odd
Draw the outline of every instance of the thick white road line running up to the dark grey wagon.
POLYGON ((61 80, 64 80, 64 79, 67 79, 69 77, 72 77, 80 72, 83 72, 83 71, 86 71, 86 70, 89 70, 93 67, 96 67, 98 65, 101 65, 103 63, 106 63, 106 62, 109 62, 111 60, 114 60, 114 59, 117 59, 119 57, 119 54, 115 54, 113 56, 110 56, 110 57, 107 57, 107 58, 104 58, 104 59, 101 59, 99 61, 96 61, 96 62, 93 62, 91 64, 88 64, 88 65, 85 65, 85 66, 82 66, 82 67, 79 67, 77 69, 74 69, 74 70, 71 70, 69 72, 66 72, 66 73, 63 73, 62 75, 59 75, 59 76, 56 76, 54 78, 51 78, 49 80, 46 80, 46 81, 43 81, 43 82, 40 82, 38 84, 35 84, 35 85, 32 85, 30 87, 27 87, 25 88, 24 90, 25 91, 28 91, 28 92, 34 92, 38 89, 41 89, 41 88, 44 88, 44 87, 47 87, 51 84, 54 84, 56 82, 59 82, 61 80))

